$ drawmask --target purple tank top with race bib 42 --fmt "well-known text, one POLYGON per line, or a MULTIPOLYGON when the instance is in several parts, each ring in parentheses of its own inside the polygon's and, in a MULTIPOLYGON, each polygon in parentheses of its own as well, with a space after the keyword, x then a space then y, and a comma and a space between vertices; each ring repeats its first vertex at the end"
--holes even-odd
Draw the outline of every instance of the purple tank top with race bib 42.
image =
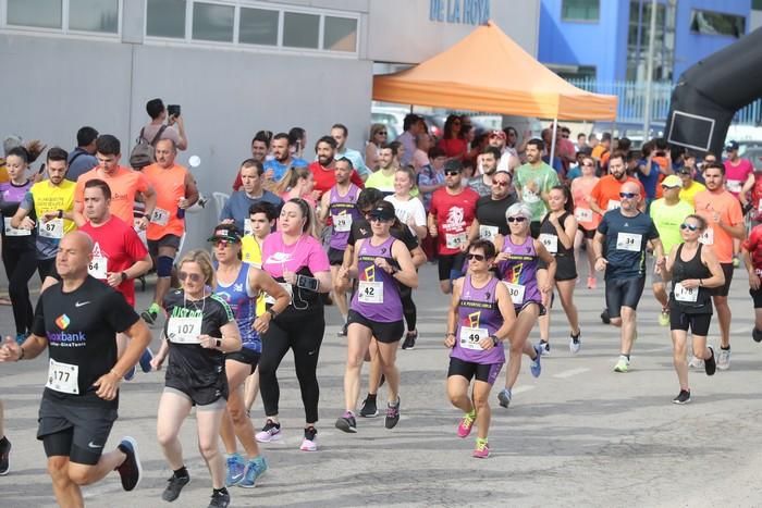
POLYGON ((352 297, 351 309, 366 319, 381 323, 394 323, 402 320, 402 300, 400 286, 394 277, 376 265, 376 258, 384 258, 390 264, 392 244, 390 236, 379 246, 371 245, 372 237, 362 240, 358 252, 358 287, 352 297))

